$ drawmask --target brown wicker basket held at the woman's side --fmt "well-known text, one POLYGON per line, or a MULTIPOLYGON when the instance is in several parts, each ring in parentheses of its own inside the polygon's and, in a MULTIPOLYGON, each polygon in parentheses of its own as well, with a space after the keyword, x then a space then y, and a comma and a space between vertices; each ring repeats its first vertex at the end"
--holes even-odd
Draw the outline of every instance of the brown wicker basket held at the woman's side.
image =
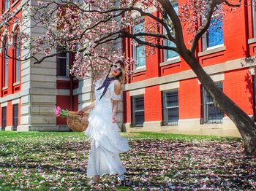
POLYGON ((89 122, 89 112, 83 112, 83 114, 78 114, 78 112, 69 111, 69 117, 67 117, 67 125, 72 131, 83 132, 86 130, 89 122))

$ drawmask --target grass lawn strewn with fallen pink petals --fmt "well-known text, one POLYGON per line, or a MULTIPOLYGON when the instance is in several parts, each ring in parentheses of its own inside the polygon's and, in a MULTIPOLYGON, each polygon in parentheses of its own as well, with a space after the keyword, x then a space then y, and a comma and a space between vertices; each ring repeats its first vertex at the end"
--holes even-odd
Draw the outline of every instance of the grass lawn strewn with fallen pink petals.
POLYGON ((122 133, 124 184, 90 186, 84 133, 0 131, 0 190, 256 190, 256 159, 238 138, 122 133))

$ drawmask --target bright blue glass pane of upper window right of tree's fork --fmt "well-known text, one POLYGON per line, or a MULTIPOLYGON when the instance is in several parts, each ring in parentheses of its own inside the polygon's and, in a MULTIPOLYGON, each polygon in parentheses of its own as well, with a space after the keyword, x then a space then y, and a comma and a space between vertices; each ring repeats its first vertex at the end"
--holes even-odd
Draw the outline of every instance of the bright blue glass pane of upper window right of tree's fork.
POLYGON ((222 17, 215 17, 211 20, 207 33, 207 47, 223 44, 223 24, 222 17))

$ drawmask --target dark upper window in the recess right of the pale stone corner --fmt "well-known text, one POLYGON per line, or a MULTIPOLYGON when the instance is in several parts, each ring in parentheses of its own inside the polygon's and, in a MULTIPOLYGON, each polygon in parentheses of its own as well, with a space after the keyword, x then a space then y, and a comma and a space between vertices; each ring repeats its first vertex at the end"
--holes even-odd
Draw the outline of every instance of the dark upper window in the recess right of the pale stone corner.
MULTIPOLYGON (((57 52, 67 50, 64 47, 57 47, 57 52)), ((57 76, 59 77, 69 77, 69 53, 62 52, 57 55, 57 76)))

